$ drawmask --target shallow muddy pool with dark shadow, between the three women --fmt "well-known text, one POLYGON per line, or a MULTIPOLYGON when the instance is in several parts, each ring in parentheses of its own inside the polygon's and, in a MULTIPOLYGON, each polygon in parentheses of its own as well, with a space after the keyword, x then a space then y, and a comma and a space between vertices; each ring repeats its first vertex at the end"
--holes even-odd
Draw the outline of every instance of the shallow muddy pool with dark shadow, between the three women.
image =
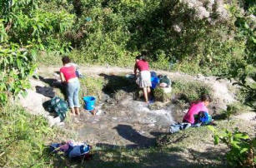
POLYGON ((172 109, 173 105, 150 110, 147 103, 126 96, 122 101, 98 103, 94 117, 83 110, 65 127, 76 132, 79 141, 96 146, 148 147, 154 145, 156 136, 168 131, 172 109))

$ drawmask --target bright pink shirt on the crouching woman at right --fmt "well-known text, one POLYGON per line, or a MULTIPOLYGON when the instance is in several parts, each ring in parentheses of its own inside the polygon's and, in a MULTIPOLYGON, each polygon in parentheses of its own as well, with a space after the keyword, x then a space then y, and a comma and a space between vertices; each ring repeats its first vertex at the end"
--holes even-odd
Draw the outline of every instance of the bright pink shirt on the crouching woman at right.
POLYGON ((200 111, 206 111, 208 112, 208 109, 206 106, 204 106, 203 101, 192 103, 191 106, 188 109, 187 114, 183 117, 184 121, 188 121, 189 123, 194 123, 194 115, 198 115, 200 111))

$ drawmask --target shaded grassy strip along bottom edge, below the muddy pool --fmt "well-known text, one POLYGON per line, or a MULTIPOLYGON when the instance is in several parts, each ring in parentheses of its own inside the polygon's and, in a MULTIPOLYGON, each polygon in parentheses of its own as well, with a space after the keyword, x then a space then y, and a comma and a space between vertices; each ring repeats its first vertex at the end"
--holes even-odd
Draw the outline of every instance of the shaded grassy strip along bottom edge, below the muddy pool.
POLYGON ((53 156, 54 167, 227 167, 223 152, 208 149, 199 152, 181 147, 147 150, 101 149, 93 151, 91 161, 71 161, 53 156))

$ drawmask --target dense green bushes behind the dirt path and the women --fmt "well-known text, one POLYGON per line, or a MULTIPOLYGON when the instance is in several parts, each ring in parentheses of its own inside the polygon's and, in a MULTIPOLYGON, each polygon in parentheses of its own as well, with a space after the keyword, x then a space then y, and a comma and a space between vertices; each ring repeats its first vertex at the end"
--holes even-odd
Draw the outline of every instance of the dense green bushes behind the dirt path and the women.
MULTIPOLYGON (((15 45, 15 52, 26 52, 27 64, 37 60, 47 66, 58 63, 62 54, 82 64, 132 66, 134 57, 147 50, 151 66, 159 69, 254 77, 255 33, 249 17, 254 3, 209 4, 198 1, 204 12, 178 0, 3 0, 1 48, 11 51, 15 45)), ((2 55, 1 68, 12 67, 17 58, 10 55, 3 61, 2 55)), ((33 72, 33 67, 21 66, 33 72)), ((16 92, 24 87, 18 85, 16 92)), ((1 100, 15 92, 9 87, 1 86, 1 100)))

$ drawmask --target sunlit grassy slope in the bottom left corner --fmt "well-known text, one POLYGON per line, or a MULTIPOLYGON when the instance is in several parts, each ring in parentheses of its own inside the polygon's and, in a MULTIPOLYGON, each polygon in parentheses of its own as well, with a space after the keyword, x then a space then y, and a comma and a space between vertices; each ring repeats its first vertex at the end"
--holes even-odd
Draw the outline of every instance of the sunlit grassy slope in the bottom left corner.
POLYGON ((43 117, 28 115, 18 106, 6 106, 1 109, 0 129, 1 167, 47 165, 46 141, 56 134, 43 117))

